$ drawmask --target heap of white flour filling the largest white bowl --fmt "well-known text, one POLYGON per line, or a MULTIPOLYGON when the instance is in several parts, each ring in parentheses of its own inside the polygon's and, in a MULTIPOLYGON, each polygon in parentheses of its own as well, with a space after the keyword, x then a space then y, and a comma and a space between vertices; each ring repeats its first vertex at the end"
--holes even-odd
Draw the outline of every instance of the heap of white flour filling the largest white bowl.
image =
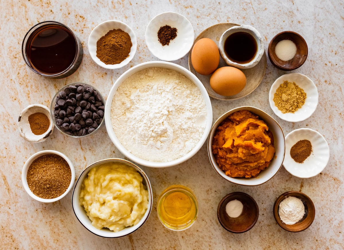
POLYGON ((111 124, 133 155, 169 162, 190 152, 206 125, 205 100, 184 75, 150 68, 128 77, 111 104, 111 124))

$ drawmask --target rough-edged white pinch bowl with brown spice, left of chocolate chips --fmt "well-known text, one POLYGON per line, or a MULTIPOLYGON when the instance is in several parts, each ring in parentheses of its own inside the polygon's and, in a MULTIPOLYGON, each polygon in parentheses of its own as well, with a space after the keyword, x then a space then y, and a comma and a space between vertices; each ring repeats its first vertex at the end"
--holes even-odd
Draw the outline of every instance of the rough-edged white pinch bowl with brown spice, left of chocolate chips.
POLYGON ((48 107, 31 104, 24 108, 18 118, 20 135, 28 142, 44 142, 54 131, 48 107))

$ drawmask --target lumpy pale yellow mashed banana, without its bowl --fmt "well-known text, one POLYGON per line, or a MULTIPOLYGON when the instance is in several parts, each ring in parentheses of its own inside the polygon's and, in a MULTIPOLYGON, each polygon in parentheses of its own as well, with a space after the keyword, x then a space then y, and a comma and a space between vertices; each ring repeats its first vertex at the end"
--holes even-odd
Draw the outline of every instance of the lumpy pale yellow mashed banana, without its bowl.
POLYGON ((136 169, 124 163, 92 168, 80 192, 80 204, 95 228, 118 232, 136 225, 148 209, 148 191, 136 169))

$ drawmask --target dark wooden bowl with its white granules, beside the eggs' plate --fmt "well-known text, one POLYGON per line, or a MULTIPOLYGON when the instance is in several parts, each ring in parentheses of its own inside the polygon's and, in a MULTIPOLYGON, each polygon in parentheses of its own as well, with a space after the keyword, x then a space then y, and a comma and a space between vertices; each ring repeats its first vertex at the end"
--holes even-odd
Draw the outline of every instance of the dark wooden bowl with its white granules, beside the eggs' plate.
POLYGON ((273 66, 290 71, 299 68, 307 59, 308 46, 303 37, 293 31, 275 35, 269 43, 268 56, 273 66))

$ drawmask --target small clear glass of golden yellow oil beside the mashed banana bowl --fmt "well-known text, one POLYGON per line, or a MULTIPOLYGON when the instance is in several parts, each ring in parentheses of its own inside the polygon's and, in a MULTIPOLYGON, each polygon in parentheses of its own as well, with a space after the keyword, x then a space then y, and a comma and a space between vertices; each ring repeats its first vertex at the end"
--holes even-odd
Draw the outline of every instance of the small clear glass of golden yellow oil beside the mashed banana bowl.
POLYGON ((190 188, 172 185, 161 193, 157 211, 162 225, 174 231, 182 231, 196 221, 198 202, 190 188))

